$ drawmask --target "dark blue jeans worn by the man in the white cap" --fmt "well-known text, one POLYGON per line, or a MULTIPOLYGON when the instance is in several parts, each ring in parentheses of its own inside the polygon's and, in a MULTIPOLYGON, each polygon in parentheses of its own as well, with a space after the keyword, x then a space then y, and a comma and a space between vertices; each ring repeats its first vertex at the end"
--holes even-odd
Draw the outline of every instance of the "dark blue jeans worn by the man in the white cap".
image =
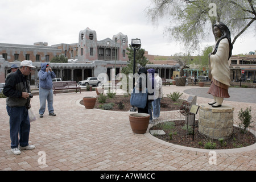
POLYGON ((30 119, 26 106, 9 107, 6 106, 8 115, 10 116, 10 137, 11 148, 19 145, 28 146, 28 138, 30 135, 30 119))

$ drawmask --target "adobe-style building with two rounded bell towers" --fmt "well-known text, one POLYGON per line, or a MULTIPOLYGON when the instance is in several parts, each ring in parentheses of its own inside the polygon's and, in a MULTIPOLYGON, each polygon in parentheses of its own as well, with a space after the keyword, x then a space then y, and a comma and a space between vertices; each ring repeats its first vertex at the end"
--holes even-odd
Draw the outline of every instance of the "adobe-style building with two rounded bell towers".
MULTIPOLYGON (((31 85, 37 84, 40 63, 50 63, 53 57, 60 55, 67 57, 68 63, 50 63, 50 65, 56 77, 61 77, 62 80, 78 82, 86 77, 98 76, 100 73, 106 73, 110 79, 111 69, 116 68, 118 74, 123 67, 126 67, 128 45, 127 35, 121 32, 112 39, 97 40, 96 31, 90 28, 79 32, 78 43, 61 43, 52 46, 48 46, 46 42, 36 42, 34 45, 0 43, 2 57, 0 57, 0 66, 3 69, 1 69, 0 82, 5 82, 11 64, 19 65, 23 60, 32 60, 36 69, 30 75, 31 85)), ((171 78, 172 71, 179 65, 149 65, 149 67, 158 69, 163 77, 171 78)))

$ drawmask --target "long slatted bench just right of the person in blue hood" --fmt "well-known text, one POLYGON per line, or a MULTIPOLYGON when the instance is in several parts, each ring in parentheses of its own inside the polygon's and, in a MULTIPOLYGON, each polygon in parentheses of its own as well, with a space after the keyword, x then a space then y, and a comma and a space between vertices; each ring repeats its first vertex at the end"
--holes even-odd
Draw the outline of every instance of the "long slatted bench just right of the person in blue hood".
POLYGON ((70 90, 70 89, 76 89, 79 90, 81 93, 81 87, 80 85, 76 84, 76 81, 56 81, 52 82, 52 90, 54 92, 54 95, 56 96, 56 90, 70 90))

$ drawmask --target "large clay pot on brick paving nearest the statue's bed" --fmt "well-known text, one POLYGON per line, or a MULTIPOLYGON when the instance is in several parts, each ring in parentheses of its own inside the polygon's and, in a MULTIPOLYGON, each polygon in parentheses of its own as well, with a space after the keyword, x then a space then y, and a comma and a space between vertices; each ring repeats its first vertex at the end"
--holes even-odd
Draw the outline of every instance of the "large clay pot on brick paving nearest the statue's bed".
POLYGON ((131 130, 136 134, 144 134, 147 131, 150 115, 145 113, 133 113, 129 115, 131 130))

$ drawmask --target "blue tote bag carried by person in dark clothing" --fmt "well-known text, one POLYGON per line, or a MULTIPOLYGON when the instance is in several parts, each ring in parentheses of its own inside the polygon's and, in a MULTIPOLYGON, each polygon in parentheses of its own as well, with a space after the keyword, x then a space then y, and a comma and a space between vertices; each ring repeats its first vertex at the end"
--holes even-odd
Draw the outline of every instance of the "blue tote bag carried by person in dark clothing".
POLYGON ((143 92, 136 90, 136 88, 133 89, 133 92, 131 93, 131 99, 130 103, 131 106, 139 107, 139 108, 144 108, 146 107, 147 104, 147 89, 144 88, 143 92))

